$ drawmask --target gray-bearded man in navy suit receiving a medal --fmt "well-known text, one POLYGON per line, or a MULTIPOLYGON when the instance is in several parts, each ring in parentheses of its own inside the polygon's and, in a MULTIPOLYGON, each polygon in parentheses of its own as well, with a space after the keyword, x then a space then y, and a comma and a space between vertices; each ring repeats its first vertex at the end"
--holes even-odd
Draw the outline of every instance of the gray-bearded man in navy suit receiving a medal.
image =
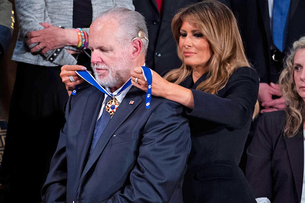
POLYGON ((45 202, 182 202, 191 145, 182 106, 151 96, 145 108, 145 92, 124 86, 145 62, 139 31, 147 36, 143 16, 125 8, 104 12, 91 24, 95 78, 115 97, 107 102, 94 86, 70 96, 42 188, 45 202))

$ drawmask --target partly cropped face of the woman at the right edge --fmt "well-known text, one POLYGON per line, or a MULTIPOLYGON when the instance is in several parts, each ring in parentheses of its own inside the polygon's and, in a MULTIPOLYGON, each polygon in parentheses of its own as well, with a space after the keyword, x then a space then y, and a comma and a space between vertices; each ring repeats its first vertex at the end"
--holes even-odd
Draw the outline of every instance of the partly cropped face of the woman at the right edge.
POLYGON ((296 91, 305 101, 305 49, 299 49, 294 55, 293 78, 296 83, 296 91))

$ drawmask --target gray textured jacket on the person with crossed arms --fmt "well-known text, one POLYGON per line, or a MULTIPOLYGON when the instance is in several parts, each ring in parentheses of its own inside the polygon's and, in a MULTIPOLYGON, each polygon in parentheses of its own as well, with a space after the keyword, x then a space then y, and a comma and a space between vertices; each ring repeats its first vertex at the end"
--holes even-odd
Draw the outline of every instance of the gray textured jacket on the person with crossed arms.
MULTIPOLYGON (((100 13, 113 7, 126 7, 135 10, 132 0, 91 0, 92 21, 99 17, 100 13)), ((46 54, 32 54, 30 47, 25 44, 27 33, 44 29, 39 23, 50 23, 54 26, 72 28, 73 25, 73 0, 15 0, 19 33, 12 60, 42 66, 75 65, 76 59, 63 49, 52 61, 48 59, 56 50, 50 50, 46 54)), ((89 28, 85 28, 89 33, 89 28)), ((65 48, 77 50, 75 47, 65 48)))

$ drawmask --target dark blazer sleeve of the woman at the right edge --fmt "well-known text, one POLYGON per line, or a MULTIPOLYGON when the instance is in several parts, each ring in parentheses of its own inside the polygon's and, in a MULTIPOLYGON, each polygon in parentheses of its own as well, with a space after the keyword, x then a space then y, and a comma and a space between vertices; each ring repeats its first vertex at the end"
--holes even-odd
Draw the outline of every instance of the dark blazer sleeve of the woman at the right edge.
POLYGON ((274 133, 277 133, 277 129, 273 128, 271 117, 263 114, 259 118, 253 140, 247 149, 246 179, 255 198, 271 199, 272 135, 274 133))

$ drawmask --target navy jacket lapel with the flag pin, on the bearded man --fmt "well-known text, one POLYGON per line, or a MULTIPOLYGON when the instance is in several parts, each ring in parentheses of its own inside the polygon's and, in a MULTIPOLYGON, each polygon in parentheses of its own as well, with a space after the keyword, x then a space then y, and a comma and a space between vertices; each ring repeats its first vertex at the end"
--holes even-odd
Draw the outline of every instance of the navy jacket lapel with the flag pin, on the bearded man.
POLYGON ((88 172, 88 170, 98 159, 98 157, 106 147, 109 139, 112 137, 112 135, 117 130, 117 128, 119 128, 119 126, 127 119, 127 117, 129 117, 129 115, 138 107, 138 105, 142 103, 142 101, 143 98, 141 95, 139 95, 139 89, 132 86, 129 92, 127 93, 127 95, 124 97, 124 100, 120 103, 120 106, 118 107, 117 111, 113 114, 113 117, 110 119, 102 136, 99 138, 99 141, 96 143, 94 150, 91 152, 92 154, 88 159, 87 165, 84 168, 80 181, 83 179, 84 175, 88 172), (130 100, 133 100, 134 104, 132 105, 129 104, 130 100))

